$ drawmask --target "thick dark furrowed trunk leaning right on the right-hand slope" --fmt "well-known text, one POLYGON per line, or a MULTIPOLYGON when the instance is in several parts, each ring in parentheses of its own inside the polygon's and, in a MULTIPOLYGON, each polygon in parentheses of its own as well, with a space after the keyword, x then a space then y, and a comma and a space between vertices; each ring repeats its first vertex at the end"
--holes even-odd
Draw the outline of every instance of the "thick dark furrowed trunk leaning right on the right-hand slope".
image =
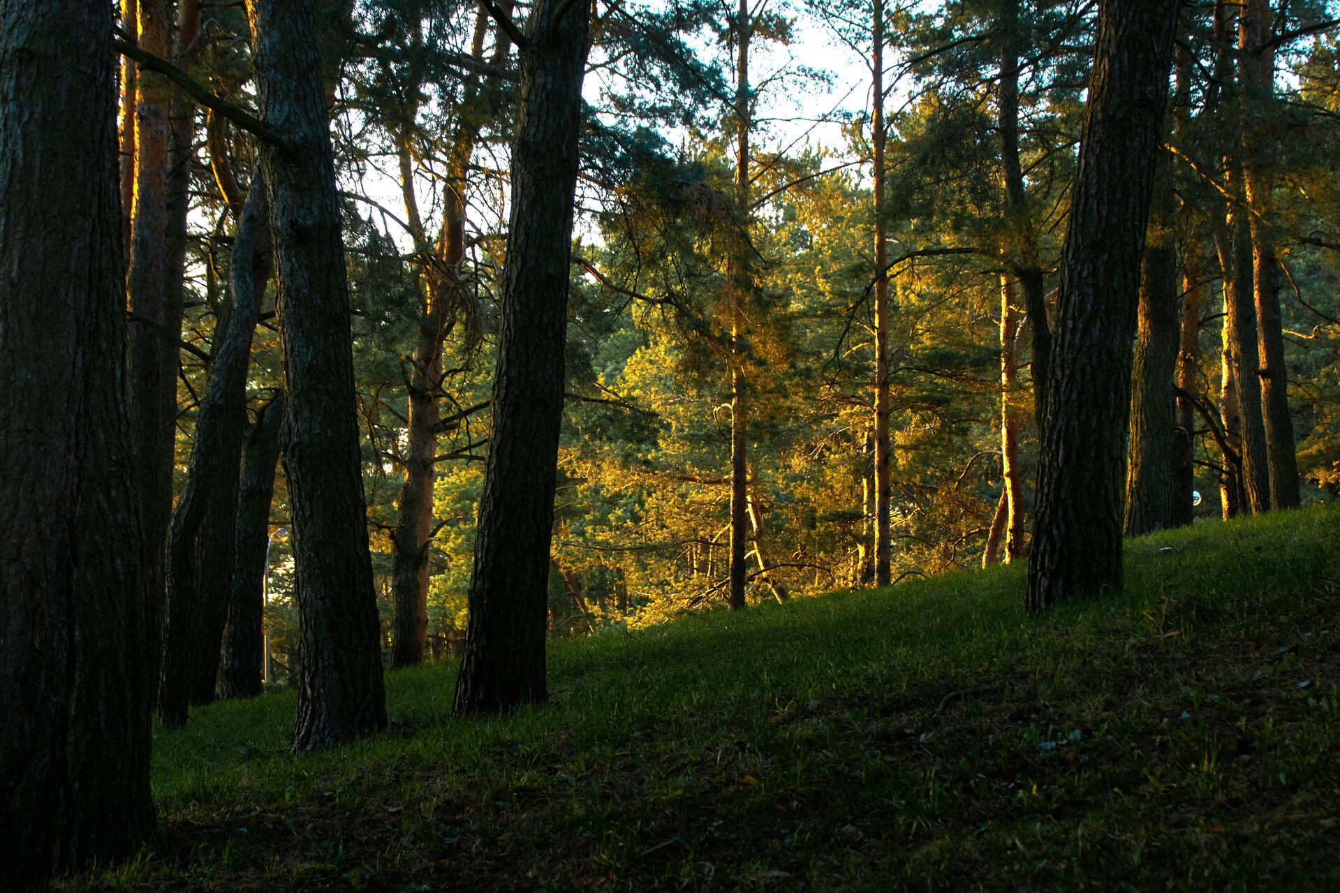
POLYGON ((1140 253, 1178 0, 1106 0, 1045 383, 1028 607, 1122 585, 1140 253))

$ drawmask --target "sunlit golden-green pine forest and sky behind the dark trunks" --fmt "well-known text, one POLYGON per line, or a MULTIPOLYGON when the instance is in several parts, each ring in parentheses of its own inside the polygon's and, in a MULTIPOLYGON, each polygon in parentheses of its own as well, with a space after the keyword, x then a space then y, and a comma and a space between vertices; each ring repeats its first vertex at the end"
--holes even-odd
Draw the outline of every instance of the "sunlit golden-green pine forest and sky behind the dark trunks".
MULTIPOLYGON (((1249 165, 1268 189, 1248 213, 1274 255, 1268 288, 1280 295, 1301 499, 1327 496, 1340 459, 1333 11, 1320 3, 1264 8, 1264 32, 1253 39, 1265 50, 1250 52, 1270 56, 1268 94, 1250 95, 1260 87, 1242 74, 1245 9, 1199 4, 1183 12, 1150 235, 1171 253, 1171 267, 1156 274, 1166 282, 1152 283, 1146 272, 1146 288, 1163 290, 1150 326, 1162 326, 1164 354, 1170 333, 1179 341, 1160 361, 1162 393, 1148 400, 1170 404, 1171 389, 1181 390, 1177 416, 1168 413, 1171 425, 1159 434, 1166 442, 1147 449, 1163 451, 1154 463, 1177 463, 1194 477, 1177 491, 1182 520, 1250 511, 1233 483, 1241 422, 1223 359, 1225 290, 1235 275, 1226 208, 1246 201, 1233 165, 1249 165)), ((192 56, 197 76, 247 102, 241 9, 209 15, 192 56)), ((323 54, 383 645, 390 649, 399 629, 398 562, 415 548, 405 532, 405 500, 418 448, 411 394, 421 388, 441 406, 430 449, 431 522, 421 539, 423 634, 430 653, 442 654, 460 646, 465 629, 490 434, 515 74, 507 36, 498 39, 473 7, 354 4, 328 15, 323 54), (454 236, 460 255, 446 259, 452 227, 464 233, 454 236), (454 278, 449 299, 431 295, 442 264, 454 278), (427 343, 437 338, 441 357, 427 343)), ((919 4, 884 15, 886 185, 876 211, 868 83, 856 83, 866 111, 833 113, 819 101, 805 103, 804 121, 761 119, 757 111, 788 107, 783 97, 805 91, 831 95, 825 82, 835 72, 868 79, 870 9, 756 11, 748 48, 762 74, 748 83, 745 107, 737 9, 598 11, 549 578, 553 634, 639 626, 726 601, 733 350, 742 355, 750 401, 748 598, 875 581, 882 271, 890 578, 1026 552, 1037 442, 1025 291, 1040 288, 1055 302, 1095 4, 919 4), (787 44, 801 29, 809 55, 796 58, 787 44), (817 54, 816 35, 825 40, 817 54), (820 117, 835 126, 815 129, 820 117), (741 126, 753 146, 744 217, 734 196, 741 126), (878 264, 876 224, 887 239, 878 264), (748 245, 749 283, 738 322, 725 298, 737 239, 748 245)), ((248 135, 220 133, 225 125, 206 129, 202 115, 194 126, 177 492, 232 263, 226 182, 217 172, 226 166, 245 184, 255 165, 248 135)), ((1154 337, 1142 329, 1142 347, 1154 337)), ((263 319, 248 371, 253 421, 279 381, 277 337, 263 319)), ((280 469, 272 531, 288 526, 284 493, 280 469)), ((297 644, 283 534, 269 569, 267 628, 281 681, 297 644)))

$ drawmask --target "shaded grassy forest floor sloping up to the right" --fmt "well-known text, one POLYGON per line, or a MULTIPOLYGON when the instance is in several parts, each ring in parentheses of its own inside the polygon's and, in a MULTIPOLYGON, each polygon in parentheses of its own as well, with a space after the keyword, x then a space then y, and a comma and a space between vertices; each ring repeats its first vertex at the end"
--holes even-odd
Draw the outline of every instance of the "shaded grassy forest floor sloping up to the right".
POLYGON ((1340 511, 553 644, 551 701, 292 758, 293 696, 155 740, 158 839, 62 890, 1336 890, 1340 511))

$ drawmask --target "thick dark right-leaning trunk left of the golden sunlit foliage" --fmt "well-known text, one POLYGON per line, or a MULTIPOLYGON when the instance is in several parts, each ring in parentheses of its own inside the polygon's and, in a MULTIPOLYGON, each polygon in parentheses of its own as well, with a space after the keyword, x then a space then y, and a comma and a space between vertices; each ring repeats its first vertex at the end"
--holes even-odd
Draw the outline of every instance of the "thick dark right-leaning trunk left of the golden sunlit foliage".
POLYGON ((493 713, 547 697, 549 540, 588 24, 586 3, 539 0, 519 48, 493 428, 457 715, 493 713))

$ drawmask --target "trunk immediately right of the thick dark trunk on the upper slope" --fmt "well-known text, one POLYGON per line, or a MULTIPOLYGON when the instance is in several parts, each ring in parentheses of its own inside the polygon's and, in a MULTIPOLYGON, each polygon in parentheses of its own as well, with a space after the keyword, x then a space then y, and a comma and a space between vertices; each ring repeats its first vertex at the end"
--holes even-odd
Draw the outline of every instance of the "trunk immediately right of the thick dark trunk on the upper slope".
MULTIPOLYGON (((1166 166, 1162 161, 1160 166, 1166 166)), ((1131 369, 1131 436, 1126 476, 1126 535, 1172 526, 1177 445, 1178 275, 1172 185, 1159 177, 1146 236, 1131 369)))

